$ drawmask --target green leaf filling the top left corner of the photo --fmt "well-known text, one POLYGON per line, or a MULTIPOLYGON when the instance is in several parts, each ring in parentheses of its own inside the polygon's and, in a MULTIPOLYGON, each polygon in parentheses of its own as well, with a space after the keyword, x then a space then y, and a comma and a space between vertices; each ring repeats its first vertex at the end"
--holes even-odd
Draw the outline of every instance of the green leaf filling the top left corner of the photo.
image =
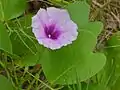
POLYGON ((16 18, 23 14, 25 8, 25 0, 0 0, 0 20, 16 18))

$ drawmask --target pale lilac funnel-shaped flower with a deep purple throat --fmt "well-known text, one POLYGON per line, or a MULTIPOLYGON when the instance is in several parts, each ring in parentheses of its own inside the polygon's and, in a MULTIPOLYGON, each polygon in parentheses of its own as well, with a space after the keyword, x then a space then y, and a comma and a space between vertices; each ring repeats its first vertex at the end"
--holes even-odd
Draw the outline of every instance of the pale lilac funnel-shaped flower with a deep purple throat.
POLYGON ((77 25, 67 10, 49 7, 32 17, 32 32, 39 44, 52 50, 60 49, 77 39, 77 25))

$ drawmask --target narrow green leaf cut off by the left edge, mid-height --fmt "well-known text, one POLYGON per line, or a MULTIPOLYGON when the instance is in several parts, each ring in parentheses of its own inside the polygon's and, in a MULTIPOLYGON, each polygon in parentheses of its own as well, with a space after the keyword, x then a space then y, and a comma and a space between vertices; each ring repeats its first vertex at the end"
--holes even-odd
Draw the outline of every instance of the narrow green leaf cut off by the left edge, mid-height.
POLYGON ((0 23, 0 49, 12 53, 12 44, 4 25, 0 23))

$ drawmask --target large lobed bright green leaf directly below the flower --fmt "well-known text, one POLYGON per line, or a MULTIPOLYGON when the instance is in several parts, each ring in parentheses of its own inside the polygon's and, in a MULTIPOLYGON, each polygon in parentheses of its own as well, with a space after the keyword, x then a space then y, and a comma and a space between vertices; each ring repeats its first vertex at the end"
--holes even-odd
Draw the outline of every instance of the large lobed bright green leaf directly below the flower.
POLYGON ((89 25, 86 29, 80 29, 77 40, 71 45, 55 51, 46 49, 41 63, 51 83, 73 84, 76 76, 84 81, 103 68, 106 57, 102 53, 93 53, 101 23, 94 25, 96 28, 89 25))

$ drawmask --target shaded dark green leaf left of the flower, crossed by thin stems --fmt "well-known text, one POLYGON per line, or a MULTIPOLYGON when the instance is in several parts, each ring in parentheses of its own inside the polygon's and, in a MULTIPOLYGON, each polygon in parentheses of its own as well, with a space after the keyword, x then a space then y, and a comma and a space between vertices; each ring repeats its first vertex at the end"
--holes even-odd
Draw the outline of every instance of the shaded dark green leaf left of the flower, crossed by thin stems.
POLYGON ((16 60, 16 63, 20 66, 35 65, 42 50, 31 32, 31 17, 31 15, 26 15, 13 22, 13 28, 18 28, 18 30, 15 30, 10 38, 13 45, 13 53, 20 57, 16 60))

